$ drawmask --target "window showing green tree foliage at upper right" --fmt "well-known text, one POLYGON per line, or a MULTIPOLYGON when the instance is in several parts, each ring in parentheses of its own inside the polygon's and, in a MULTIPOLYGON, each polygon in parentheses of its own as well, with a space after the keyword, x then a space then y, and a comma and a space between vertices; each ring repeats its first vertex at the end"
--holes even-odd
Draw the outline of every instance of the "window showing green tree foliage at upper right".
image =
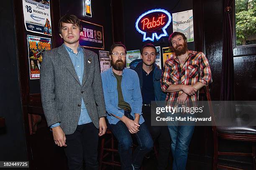
POLYGON ((235 0, 235 46, 256 44, 256 0, 235 0))

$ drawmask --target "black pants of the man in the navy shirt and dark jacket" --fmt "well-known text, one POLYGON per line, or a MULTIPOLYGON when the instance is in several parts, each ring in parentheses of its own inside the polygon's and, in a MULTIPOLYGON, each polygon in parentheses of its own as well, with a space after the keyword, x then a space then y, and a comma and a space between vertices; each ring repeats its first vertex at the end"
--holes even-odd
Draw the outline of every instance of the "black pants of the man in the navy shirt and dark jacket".
POLYGON ((169 153, 171 150, 170 135, 167 126, 151 126, 151 107, 142 107, 143 117, 153 141, 159 143, 159 155, 157 169, 165 170, 168 165, 169 153))

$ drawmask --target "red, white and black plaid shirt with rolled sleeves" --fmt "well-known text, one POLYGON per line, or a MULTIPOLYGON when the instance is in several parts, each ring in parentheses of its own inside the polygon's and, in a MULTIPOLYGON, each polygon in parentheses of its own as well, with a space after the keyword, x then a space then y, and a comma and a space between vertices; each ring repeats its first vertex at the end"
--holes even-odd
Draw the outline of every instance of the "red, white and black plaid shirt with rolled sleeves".
MULTIPOLYGON (((212 82, 209 62, 204 53, 188 50, 188 56, 183 65, 179 62, 175 53, 166 60, 161 79, 163 91, 167 90, 169 85, 194 85, 196 82, 202 82, 205 85, 212 82)), ((180 94, 182 94, 182 91, 168 92, 166 96, 167 104, 175 103, 180 94)), ((187 102, 196 102, 197 100, 197 93, 187 97, 187 102)))

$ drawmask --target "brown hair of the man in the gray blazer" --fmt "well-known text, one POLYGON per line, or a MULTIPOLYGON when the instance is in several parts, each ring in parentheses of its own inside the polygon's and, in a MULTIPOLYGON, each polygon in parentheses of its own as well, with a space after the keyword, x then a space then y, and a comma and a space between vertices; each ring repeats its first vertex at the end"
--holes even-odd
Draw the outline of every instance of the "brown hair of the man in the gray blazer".
POLYGON ((61 19, 59 19, 59 33, 60 34, 61 34, 61 24, 62 23, 69 23, 69 24, 77 25, 79 27, 80 32, 82 32, 82 30, 83 30, 80 20, 77 18, 76 15, 66 14, 63 17, 61 17, 61 19))

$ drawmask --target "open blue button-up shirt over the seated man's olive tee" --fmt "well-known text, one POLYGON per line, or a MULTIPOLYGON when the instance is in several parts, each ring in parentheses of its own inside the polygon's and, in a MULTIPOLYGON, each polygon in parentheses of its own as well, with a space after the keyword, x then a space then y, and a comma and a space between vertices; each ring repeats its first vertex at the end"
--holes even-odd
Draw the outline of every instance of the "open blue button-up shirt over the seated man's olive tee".
MULTIPOLYGON (((141 115, 142 97, 139 78, 134 70, 125 68, 122 73, 121 88, 123 99, 131 106, 131 115, 135 118, 135 113, 141 115)), ((113 74, 112 67, 101 73, 102 87, 106 110, 108 112, 107 119, 110 124, 116 124, 119 119, 114 117, 123 117, 124 110, 118 107, 118 90, 117 80, 113 74)), ((140 116, 139 124, 143 123, 144 119, 140 116)))

